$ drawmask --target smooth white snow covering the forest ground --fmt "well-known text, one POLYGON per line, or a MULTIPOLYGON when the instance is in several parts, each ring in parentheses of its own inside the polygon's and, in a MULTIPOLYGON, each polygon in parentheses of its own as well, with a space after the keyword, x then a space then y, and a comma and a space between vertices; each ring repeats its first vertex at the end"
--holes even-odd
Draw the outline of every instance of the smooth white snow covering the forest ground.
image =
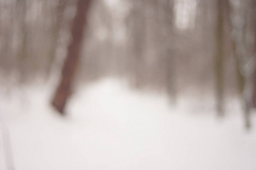
POLYGON ((15 170, 256 169, 256 131, 245 130, 239 111, 222 119, 212 107, 196 114, 185 102, 170 107, 164 95, 108 78, 77 90, 61 117, 49 106, 49 89, 1 94, 1 127, 10 133, 15 170))

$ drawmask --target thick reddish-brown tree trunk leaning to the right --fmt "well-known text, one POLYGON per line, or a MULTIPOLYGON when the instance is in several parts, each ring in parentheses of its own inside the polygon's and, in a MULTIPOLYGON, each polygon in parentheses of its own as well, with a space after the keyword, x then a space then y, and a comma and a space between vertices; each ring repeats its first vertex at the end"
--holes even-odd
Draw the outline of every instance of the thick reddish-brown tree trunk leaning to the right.
POLYGON ((61 72, 61 80, 52 100, 52 105, 61 114, 64 114, 65 105, 71 95, 73 79, 79 63, 82 40, 90 3, 92 0, 79 0, 76 7, 76 15, 73 19, 71 36, 72 41, 68 47, 67 57, 61 72))

